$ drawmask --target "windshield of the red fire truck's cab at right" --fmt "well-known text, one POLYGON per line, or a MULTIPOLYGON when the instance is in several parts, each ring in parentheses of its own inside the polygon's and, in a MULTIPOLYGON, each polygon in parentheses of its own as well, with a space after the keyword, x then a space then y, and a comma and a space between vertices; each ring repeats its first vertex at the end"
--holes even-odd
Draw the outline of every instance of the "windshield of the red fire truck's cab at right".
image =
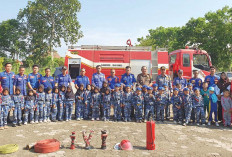
POLYGON ((194 54, 193 55, 193 66, 195 68, 209 71, 209 60, 205 54, 194 54))

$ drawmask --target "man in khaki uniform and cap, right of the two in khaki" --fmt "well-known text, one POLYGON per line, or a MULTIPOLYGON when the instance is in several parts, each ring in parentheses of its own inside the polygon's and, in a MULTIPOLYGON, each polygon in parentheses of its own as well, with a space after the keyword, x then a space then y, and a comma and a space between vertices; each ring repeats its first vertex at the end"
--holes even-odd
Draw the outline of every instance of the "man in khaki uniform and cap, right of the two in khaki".
MULTIPOLYGON (((163 87, 163 84, 167 84, 170 92, 172 93, 172 83, 169 75, 166 74, 165 66, 160 68, 161 74, 156 77, 156 84, 158 87, 163 87)), ((171 94, 172 95, 172 94, 171 94)))

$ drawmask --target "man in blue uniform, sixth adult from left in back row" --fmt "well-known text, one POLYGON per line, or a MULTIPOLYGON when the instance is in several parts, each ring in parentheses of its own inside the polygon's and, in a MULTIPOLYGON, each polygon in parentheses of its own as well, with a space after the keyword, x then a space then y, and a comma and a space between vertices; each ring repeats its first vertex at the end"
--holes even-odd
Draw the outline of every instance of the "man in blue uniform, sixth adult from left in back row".
POLYGON ((81 69, 81 72, 80 72, 80 76, 77 76, 74 84, 75 84, 75 88, 78 90, 80 85, 83 84, 84 85, 84 89, 86 89, 86 86, 88 84, 90 84, 89 82, 89 78, 87 76, 85 76, 85 73, 86 73, 86 70, 85 68, 82 68, 81 69))

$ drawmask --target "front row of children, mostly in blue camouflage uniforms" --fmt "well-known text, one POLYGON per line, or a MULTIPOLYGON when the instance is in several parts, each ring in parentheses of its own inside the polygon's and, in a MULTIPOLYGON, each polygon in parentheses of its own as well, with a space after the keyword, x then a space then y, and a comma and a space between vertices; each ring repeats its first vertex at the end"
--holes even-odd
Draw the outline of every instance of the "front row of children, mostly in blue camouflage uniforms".
MULTIPOLYGON (((0 129, 7 128, 7 116, 13 110, 13 126, 21 125, 22 122, 41 123, 70 121, 73 108, 75 106, 76 120, 110 120, 111 108, 114 110, 114 121, 146 122, 150 119, 156 121, 169 120, 170 108, 173 109, 174 123, 187 125, 195 122, 205 125, 206 112, 208 113, 208 125, 211 125, 212 115, 216 126, 217 120, 217 96, 214 87, 209 87, 207 82, 203 83, 203 88, 194 88, 191 83, 187 88, 182 89, 177 84, 171 95, 167 84, 158 87, 136 87, 133 91, 131 86, 124 88, 116 84, 114 90, 108 87, 107 82, 99 89, 93 85, 87 85, 86 89, 81 84, 74 94, 72 87, 61 86, 54 89, 40 85, 36 94, 28 90, 27 96, 21 94, 20 88, 16 88, 13 96, 9 95, 7 88, 3 89, 0 105, 0 129), (23 115, 23 116, 22 116, 23 115)), ((224 109, 224 125, 231 125, 232 101, 230 92, 225 90, 221 98, 224 109)))

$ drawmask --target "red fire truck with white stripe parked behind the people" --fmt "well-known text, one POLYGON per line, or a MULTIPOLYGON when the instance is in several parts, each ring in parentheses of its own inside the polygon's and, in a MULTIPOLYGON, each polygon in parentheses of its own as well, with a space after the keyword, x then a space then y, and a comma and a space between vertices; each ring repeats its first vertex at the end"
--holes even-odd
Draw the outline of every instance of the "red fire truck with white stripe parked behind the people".
POLYGON ((97 65, 102 66, 106 77, 110 75, 110 69, 115 69, 116 75, 121 78, 126 66, 131 66, 132 73, 137 76, 141 67, 147 66, 155 79, 160 74, 160 67, 165 66, 167 74, 175 77, 182 69, 184 77, 189 79, 194 69, 200 71, 202 78, 208 75, 212 64, 206 51, 188 48, 168 53, 166 49, 152 51, 151 47, 83 45, 71 46, 66 52, 65 66, 73 80, 81 68, 86 69, 86 76, 91 79, 97 65))

